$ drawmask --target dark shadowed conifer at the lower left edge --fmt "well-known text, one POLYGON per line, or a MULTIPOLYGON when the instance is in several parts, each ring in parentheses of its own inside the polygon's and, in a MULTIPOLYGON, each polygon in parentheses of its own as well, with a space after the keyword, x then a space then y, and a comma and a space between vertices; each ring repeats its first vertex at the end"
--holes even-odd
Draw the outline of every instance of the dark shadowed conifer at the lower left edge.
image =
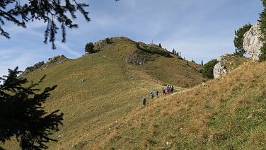
MULTIPOLYGON (((21 71, 8 69, 8 76, 0 77, 0 141, 5 143, 15 136, 21 149, 47 149, 52 132, 59 131, 63 113, 59 110, 48 114, 42 107, 57 86, 47 87, 44 91, 35 88, 45 76, 25 86, 27 79, 18 78, 21 71), (2 82, 1 82, 2 81, 2 82)), ((2 149, 0 147, 0 149, 2 149)))

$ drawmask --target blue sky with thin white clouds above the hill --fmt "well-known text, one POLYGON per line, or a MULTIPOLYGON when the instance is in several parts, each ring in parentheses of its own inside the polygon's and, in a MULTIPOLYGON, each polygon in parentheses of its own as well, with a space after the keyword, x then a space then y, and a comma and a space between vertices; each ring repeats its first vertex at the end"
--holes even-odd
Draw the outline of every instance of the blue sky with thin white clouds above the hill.
POLYGON ((43 44, 46 24, 29 22, 21 28, 6 22, 2 28, 11 39, 0 35, 0 76, 8 69, 25 71, 37 62, 64 54, 76 59, 85 54, 88 42, 123 36, 137 42, 161 44, 181 57, 200 64, 223 54, 235 52, 235 30, 247 23, 258 23, 263 6, 260 0, 77 0, 89 4, 90 22, 81 13, 67 29, 67 42, 61 32, 56 37, 57 50, 43 44))

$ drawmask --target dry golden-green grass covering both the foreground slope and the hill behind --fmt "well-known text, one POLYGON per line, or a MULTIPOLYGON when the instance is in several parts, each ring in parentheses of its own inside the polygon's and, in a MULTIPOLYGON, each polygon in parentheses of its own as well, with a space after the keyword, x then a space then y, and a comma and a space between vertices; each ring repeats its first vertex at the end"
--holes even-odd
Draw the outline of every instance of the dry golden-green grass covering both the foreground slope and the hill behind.
MULTIPOLYGON (((131 45, 123 53, 130 43, 134 45, 130 40, 114 42, 112 51, 28 74, 33 81, 47 74, 41 88, 58 85, 45 109, 60 109, 64 126, 52 135, 58 142, 50 142, 49 149, 265 148, 265 62, 244 64, 202 86, 197 64, 187 66, 174 57, 157 56, 141 66, 125 64, 122 57, 135 50, 131 45), (169 71, 175 74, 168 76, 169 71), (181 94, 160 93, 151 100, 149 91, 161 91, 165 83, 181 94), (145 109, 142 97, 148 98, 145 109)), ((18 149, 13 143, 4 148, 18 149)))

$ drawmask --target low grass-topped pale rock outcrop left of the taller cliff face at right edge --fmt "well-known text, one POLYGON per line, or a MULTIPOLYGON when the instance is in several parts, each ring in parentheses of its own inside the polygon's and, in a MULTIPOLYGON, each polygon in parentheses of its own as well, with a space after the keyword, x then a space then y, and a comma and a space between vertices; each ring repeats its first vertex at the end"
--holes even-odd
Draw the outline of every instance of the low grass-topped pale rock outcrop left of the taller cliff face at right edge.
POLYGON ((241 64, 250 61, 248 57, 240 57, 235 54, 224 54, 217 58, 214 66, 214 79, 226 74, 229 71, 239 69, 241 64))

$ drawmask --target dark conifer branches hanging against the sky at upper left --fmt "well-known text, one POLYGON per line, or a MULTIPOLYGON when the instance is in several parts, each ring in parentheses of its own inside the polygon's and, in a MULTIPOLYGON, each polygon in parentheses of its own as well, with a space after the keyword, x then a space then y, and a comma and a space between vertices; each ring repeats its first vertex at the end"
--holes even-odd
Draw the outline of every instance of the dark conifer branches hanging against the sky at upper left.
POLYGON ((73 3, 69 0, 64 0, 63 3, 47 0, 28 0, 28 2, 1 0, 0 34, 10 38, 9 33, 2 27, 6 21, 11 21, 23 28, 26 28, 28 21, 44 21, 44 23, 47 23, 44 43, 47 44, 49 41, 52 43, 52 49, 56 49, 54 41, 59 29, 57 23, 62 30, 62 42, 66 42, 66 28, 78 28, 78 24, 73 23, 74 19, 77 18, 76 11, 81 12, 86 21, 91 21, 88 18, 88 12, 84 9, 86 7, 88 7, 88 4, 78 3, 76 0, 73 0, 73 3))

